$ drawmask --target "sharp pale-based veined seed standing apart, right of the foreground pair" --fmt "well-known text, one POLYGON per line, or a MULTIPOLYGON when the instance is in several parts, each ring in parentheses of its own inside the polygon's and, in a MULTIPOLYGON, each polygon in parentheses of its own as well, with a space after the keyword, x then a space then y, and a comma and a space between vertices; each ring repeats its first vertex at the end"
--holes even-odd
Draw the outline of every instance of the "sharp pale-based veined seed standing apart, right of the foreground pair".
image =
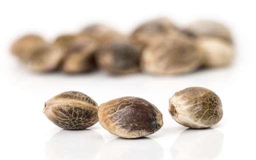
POLYGON ((206 128, 222 118, 220 98, 204 87, 188 87, 176 92, 169 99, 171 117, 190 128, 206 128))

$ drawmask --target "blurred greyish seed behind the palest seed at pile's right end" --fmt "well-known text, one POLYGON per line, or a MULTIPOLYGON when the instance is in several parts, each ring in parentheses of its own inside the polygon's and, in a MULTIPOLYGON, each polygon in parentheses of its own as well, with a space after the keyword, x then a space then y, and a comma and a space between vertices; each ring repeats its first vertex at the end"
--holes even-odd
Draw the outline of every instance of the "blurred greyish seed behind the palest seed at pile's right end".
POLYGON ((211 36, 232 41, 231 33, 223 24, 211 20, 199 20, 190 23, 184 31, 195 36, 211 36))

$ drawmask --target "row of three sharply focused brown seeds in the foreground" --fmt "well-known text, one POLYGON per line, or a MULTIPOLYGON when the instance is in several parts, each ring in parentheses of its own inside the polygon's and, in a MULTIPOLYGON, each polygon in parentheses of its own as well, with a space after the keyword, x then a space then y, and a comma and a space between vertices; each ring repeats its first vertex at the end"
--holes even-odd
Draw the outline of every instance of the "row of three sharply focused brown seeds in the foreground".
MULTIPOLYGON (((215 125, 223 115, 220 98, 203 87, 188 87, 176 92, 169 99, 171 117, 190 128, 215 125)), ((65 91, 45 102, 43 113, 57 126, 64 129, 84 129, 97 121, 110 133, 137 138, 158 131, 162 113, 149 101, 125 96, 97 103, 78 91, 65 91)))

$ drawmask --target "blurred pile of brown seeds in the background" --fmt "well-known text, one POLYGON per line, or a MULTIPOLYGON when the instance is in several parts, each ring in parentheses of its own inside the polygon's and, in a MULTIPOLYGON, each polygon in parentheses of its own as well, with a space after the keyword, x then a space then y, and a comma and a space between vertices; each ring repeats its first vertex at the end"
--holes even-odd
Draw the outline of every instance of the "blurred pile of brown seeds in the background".
POLYGON ((13 42, 11 53, 35 72, 99 68, 111 74, 182 74, 202 66, 228 65, 234 49, 229 30, 218 22, 201 20, 180 28, 160 17, 142 23, 129 35, 102 24, 60 35, 52 42, 28 34, 13 42))

